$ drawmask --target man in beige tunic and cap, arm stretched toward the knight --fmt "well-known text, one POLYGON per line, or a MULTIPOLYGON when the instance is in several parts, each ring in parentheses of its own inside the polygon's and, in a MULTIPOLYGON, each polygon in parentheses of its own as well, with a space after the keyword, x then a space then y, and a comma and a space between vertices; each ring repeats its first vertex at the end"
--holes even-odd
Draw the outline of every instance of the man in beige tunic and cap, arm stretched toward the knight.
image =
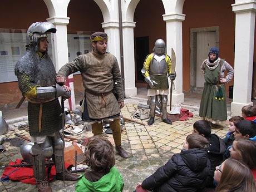
POLYGON ((94 135, 102 134, 102 120, 107 120, 112 130, 116 151, 121 157, 127 158, 128 154, 121 146, 120 125, 120 109, 124 107, 124 92, 116 57, 106 52, 108 38, 104 32, 93 33, 90 37, 93 50, 61 67, 56 80, 59 83, 65 83, 68 75, 81 72, 83 87, 85 87, 82 120, 92 125, 94 135), (114 89, 118 99, 113 93, 114 89))

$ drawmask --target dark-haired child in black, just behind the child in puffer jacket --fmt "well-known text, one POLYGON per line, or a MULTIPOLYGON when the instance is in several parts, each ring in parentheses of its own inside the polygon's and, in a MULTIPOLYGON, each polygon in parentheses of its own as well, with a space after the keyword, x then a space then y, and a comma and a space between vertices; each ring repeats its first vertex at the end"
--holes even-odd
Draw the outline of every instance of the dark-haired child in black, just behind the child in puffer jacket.
POLYGON ((226 145, 218 135, 211 134, 211 124, 206 120, 199 120, 193 124, 193 134, 204 136, 210 143, 207 150, 211 163, 210 172, 207 176, 206 187, 213 188, 213 175, 215 167, 223 161, 223 153, 226 151, 226 145))

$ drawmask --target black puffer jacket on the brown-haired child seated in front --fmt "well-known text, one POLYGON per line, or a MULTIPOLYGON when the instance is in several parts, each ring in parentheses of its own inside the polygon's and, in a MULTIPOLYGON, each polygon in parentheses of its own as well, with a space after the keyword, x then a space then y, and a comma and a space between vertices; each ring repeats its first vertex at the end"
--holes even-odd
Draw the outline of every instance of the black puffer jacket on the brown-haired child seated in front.
POLYGON ((142 188, 153 191, 206 191, 210 161, 204 149, 181 150, 142 182, 142 188))

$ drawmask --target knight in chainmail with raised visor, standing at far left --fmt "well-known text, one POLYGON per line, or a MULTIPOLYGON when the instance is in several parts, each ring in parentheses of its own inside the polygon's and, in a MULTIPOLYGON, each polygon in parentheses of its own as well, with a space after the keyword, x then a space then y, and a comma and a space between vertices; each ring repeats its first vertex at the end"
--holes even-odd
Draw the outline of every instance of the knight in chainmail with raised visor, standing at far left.
POLYGON ((77 180, 64 169, 62 116, 57 97, 70 97, 70 87, 56 84, 56 71, 47 53, 47 32, 56 32, 50 22, 36 22, 27 31, 25 55, 16 63, 15 75, 23 97, 28 99, 28 124, 32 163, 38 191, 52 191, 46 181, 46 159, 52 157, 56 179, 77 180))

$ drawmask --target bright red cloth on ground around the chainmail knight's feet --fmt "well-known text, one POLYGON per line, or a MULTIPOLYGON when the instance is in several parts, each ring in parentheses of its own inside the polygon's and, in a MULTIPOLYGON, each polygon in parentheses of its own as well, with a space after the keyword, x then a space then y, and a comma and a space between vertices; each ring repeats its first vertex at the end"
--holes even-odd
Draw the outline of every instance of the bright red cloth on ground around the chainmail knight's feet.
MULTIPOLYGON (((10 162, 9 165, 17 165, 21 164, 23 160, 16 159, 15 162, 10 162)), ((70 168, 72 166, 71 164, 65 164, 65 168, 70 168)), ((48 176, 48 169, 46 168, 46 176, 48 176)), ((8 175, 8 178, 13 181, 21 181, 22 183, 28 183, 28 184, 36 184, 36 179, 34 178, 33 168, 13 168, 11 166, 7 166, 4 169, 2 178, 5 178, 8 175), (15 171, 14 171, 15 170, 15 171), (12 173, 13 171, 13 173, 12 173), (10 174, 11 173, 11 174, 10 174), (8 175, 9 174, 9 175, 8 175)), ((56 175, 56 169, 55 165, 52 166, 51 172, 49 174, 49 179, 46 178, 46 180, 52 181, 54 179, 54 175, 56 175)))

